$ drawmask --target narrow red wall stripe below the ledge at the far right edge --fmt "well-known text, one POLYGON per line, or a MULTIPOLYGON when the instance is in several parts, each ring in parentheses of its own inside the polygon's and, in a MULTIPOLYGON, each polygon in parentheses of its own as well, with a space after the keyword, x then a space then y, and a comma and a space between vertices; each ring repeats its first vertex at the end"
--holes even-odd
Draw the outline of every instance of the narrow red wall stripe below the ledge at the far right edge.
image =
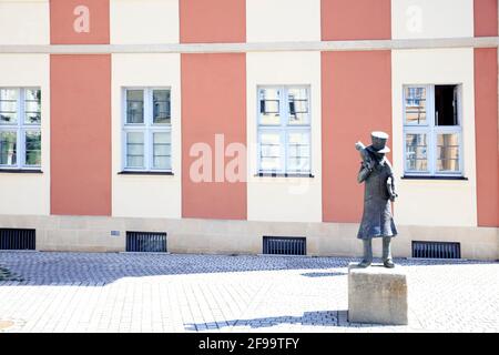
POLYGON ((475 133, 479 226, 499 226, 497 49, 475 49, 475 133))

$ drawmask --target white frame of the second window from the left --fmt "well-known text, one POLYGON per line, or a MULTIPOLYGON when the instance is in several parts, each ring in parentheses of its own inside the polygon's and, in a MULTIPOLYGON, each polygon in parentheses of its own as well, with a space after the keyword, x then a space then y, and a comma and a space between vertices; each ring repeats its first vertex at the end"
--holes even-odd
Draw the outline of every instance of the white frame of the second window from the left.
POLYGON ((124 172, 173 172, 173 135, 172 135, 172 89, 171 87, 126 87, 123 88, 122 100, 122 171, 124 172), (126 105, 126 92, 129 90, 142 90, 144 99, 144 123, 128 123, 128 105, 126 105), (153 91, 154 90, 169 90, 170 91, 170 123, 154 123, 153 112, 153 91), (144 134, 144 166, 142 168, 129 168, 126 166, 126 133, 140 132, 144 134), (170 133, 170 169, 154 168, 154 133, 170 133))

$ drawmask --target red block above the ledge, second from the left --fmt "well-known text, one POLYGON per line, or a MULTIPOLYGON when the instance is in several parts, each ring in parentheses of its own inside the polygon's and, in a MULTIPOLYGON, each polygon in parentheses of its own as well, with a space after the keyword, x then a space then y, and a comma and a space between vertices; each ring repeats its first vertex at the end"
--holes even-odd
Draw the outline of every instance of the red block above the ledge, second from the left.
POLYGON ((246 0, 180 0, 181 43, 246 41, 246 0))

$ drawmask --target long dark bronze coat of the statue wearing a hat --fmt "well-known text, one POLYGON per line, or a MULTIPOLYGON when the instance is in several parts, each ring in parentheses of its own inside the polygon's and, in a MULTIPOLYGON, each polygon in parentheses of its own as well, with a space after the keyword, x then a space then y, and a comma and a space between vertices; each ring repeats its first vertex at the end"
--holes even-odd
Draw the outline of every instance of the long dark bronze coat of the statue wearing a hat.
MULTIPOLYGON (((365 169, 360 168, 360 172, 365 169)), ((387 160, 384 164, 376 162, 375 168, 365 179, 364 214, 357 237, 368 240, 379 236, 395 236, 387 180, 393 178, 391 166, 387 160)))

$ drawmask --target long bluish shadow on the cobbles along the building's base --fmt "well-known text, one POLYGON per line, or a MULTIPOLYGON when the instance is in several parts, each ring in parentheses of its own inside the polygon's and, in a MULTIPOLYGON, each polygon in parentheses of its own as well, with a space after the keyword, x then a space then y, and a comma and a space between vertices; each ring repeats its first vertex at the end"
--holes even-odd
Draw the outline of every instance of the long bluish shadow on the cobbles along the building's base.
MULTIPOLYGON (((328 277, 346 275, 348 263, 359 261, 354 257, 0 252, 0 286, 103 286, 123 277, 289 270, 304 271, 301 273, 304 277, 328 277)), ((481 261, 396 258, 395 262, 401 266, 499 265, 481 261)))

